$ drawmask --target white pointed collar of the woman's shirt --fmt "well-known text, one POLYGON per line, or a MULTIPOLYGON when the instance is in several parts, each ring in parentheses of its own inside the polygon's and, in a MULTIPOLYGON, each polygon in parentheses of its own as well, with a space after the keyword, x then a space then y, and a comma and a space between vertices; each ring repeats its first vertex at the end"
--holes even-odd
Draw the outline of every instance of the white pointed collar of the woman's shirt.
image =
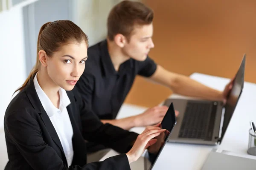
POLYGON ((70 105, 71 103, 70 99, 67 96, 67 92, 63 88, 60 88, 58 90, 60 95, 60 104, 59 104, 60 108, 58 109, 53 105, 52 101, 49 99, 49 97, 44 93, 43 89, 40 87, 37 79, 37 74, 35 75, 33 81, 35 85, 35 91, 38 94, 38 97, 44 107, 44 110, 46 111, 49 117, 53 116, 54 113, 57 113, 58 111, 62 112, 64 108, 70 105))

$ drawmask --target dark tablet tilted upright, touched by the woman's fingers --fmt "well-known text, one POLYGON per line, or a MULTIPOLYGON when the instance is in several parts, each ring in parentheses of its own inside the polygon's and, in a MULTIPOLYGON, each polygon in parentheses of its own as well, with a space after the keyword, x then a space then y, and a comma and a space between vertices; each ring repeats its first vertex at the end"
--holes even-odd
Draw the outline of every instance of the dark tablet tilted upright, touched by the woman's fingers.
POLYGON ((175 110, 173 107, 173 103, 171 103, 160 125, 160 127, 162 129, 166 129, 166 131, 161 133, 159 136, 157 136, 155 138, 157 139, 157 143, 155 143, 154 145, 151 145, 151 148, 148 149, 148 152, 145 155, 145 159, 144 159, 145 170, 151 170, 153 168, 161 151, 163 150, 164 145, 168 141, 171 135, 172 129, 175 125, 176 125, 175 110))

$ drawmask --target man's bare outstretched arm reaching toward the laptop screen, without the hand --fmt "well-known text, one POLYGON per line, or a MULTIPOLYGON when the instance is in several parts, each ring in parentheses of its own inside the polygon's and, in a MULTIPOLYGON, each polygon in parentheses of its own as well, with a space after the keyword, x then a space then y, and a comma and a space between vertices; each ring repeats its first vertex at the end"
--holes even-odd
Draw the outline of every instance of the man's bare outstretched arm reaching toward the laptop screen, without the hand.
POLYGON ((187 76, 167 71, 160 65, 157 65, 157 69, 150 79, 169 87, 175 94, 198 97, 201 99, 224 99, 222 91, 209 88, 187 76))

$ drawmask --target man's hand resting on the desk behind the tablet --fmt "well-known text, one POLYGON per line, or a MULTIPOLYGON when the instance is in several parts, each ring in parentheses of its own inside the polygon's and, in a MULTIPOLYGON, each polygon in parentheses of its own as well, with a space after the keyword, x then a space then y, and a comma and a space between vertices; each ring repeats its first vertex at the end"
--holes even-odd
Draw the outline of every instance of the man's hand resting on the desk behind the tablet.
MULTIPOLYGON (((154 108, 149 108, 144 113, 137 116, 137 126, 155 125, 161 122, 167 110, 167 106, 156 106, 154 108)), ((178 114, 179 112, 175 111, 175 115, 177 116, 178 114)))

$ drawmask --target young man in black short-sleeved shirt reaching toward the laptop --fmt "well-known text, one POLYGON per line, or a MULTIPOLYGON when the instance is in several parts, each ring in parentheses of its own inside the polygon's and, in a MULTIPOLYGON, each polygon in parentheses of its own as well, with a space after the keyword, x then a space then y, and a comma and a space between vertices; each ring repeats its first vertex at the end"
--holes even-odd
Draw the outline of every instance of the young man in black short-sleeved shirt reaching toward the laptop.
MULTIPOLYGON (((157 65, 148 53, 154 48, 153 11, 143 3, 122 1, 108 16, 107 40, 88 48, 88 66, 77 87, 94 113, 103 123, 130 129, 157 124, 167 111, 166 106, 149 108, 144 113, 124 119, 116 115, 137 75, 169 87, 174 93, 202 99, 225 99, 224 92, 202 85, 184 75, 175 74, 157 65)), ((91 144, 89 152, 103 149, 91 144)))

